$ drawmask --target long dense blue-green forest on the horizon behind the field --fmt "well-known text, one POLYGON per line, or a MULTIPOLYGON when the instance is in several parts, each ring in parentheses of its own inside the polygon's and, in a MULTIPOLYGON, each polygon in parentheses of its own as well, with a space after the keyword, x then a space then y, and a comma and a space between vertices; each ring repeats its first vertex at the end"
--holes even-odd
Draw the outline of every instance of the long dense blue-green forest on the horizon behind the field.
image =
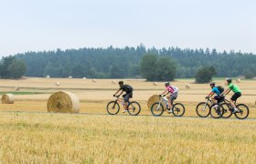
MULTIPOLYGON (((198 69, 214 67, 216 77, 237 77, 240 75, 256 75, 256 56, 252 53, 217 52, 216 49, 181 49, 168 47, 156 49, 145 48, 144 45, 123 48, 80 48, 43 52, 27 52, 16 54, 18 60, 24 61, 27 77, 93 77, 93 78, 124 78, 145 77, 143 57, 155 55, 151 67, 154 70, 153 80, 164 80, 163 72, 166 61, 175 69, 174 77, 195 77, 198 69), (166 60, 171 58, 171 60, 166 60), (162 72, 156 76, 157 72, 162 72)), ((3 59, 2 59, 3 63, 3 59)), ((4 77, 4 76, 2 76, 4 77)), ((172 78, 170 76, 169 78, 172 78)))

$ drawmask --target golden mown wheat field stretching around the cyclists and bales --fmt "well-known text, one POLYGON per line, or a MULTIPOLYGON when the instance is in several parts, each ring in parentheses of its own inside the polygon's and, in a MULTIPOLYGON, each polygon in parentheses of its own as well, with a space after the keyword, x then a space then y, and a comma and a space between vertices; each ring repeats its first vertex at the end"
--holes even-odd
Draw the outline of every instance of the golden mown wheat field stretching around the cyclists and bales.
MULTIPOLYGON (((118 81, 118 79, 116 79, 118 81)), ((216 80, 224 86, 224 80, 216 80)), ((112 80, 27 78, 0 80, 1 93, 13 92, 15 104, 0 104, 0 161, 35 163, 255 163, 256 81, 242 80, 240 103, 249 105, 249 118, 198 118, 197 103, 209 92, 207 84, 176 80, 178 102, 186 105, 183 118, 155 118, 148 97, 164 86, 144 80, 125 80, 134 87, 141 116, 109 116, 106 104, 118 88, 112 80), (55 86, 56 82, 59 87, 55 86), (191 88, 185 85, 191 83, 191 88), (15 91, 15 87, 20 87, 15 91), (68 90, 80 98, 80 114, 47 112, 48 97, 68 90), (18 93, 16 93, 18 92, 18 93)))

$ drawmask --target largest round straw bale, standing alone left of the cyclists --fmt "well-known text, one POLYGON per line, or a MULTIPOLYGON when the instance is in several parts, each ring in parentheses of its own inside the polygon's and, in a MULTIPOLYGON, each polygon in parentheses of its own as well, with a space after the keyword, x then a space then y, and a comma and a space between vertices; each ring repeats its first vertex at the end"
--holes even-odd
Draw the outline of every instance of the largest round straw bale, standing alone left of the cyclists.
POLYGON ((70 92, 56 92, 48 98, 48 112, 79 113, 80 100, 70 92))

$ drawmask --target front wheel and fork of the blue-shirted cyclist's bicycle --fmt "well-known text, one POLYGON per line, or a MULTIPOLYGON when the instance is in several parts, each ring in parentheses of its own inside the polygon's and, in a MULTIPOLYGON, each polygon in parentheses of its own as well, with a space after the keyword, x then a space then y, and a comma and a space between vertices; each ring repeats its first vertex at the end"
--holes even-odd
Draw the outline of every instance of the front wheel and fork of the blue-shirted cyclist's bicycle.
POLYGON ((197 104, 196 112, 198 117, 207 118, 209 115, 210 105, 212 105, 212 100, 207 97, 206 102, 200 102, 197 104))

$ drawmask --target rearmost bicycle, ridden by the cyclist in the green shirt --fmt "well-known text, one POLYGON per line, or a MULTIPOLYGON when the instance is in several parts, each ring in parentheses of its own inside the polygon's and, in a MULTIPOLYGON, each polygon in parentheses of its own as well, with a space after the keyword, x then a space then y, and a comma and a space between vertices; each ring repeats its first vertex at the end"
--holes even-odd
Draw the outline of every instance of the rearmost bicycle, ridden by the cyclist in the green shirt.
MULTIPOLYGON (((236 105, 236 101, 235 101, 236 105)), ((214 107, 220 107, 223 109, 222 118, 230 118, 232 116, 232 110, 233 108, 230 105, 230 101, 224 97, 224 100, 220 103, 212 104, 211 108, 214 107)), ((234 113, 236 118, 239 119, 245 119, 249 116, 249 108, 245 104, 238 104, 236 105, 236 108, 238 109, 237 112, 234 113)))

